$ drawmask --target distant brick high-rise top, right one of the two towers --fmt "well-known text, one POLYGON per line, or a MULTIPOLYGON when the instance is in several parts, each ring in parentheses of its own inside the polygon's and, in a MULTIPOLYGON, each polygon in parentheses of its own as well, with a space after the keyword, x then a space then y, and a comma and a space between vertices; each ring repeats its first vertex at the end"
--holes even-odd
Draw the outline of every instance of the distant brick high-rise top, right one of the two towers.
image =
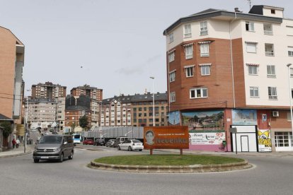
POLYGON ((70 94, 74 96, 88 95, 91 99, 101 101, 103 100, 103 89, 91 87, 90 85, 79 86, 72 88, 70 94))

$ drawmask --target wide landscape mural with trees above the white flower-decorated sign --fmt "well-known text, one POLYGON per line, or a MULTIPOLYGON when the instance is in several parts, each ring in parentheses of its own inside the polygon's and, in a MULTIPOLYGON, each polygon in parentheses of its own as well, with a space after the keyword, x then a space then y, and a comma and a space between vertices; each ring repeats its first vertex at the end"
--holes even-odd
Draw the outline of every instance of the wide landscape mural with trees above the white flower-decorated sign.
POLYGON ((224 130, 224 111, 182 112, 182 124, 190 132, 224 130))

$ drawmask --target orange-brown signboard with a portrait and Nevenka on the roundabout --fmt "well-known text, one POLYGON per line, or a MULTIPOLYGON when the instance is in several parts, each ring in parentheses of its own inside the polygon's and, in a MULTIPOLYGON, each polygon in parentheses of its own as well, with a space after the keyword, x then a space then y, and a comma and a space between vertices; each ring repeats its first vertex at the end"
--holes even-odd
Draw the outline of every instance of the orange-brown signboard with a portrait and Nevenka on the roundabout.
POLYGON ((188 149, 188 126, 145 126, 145 149, 188 149))

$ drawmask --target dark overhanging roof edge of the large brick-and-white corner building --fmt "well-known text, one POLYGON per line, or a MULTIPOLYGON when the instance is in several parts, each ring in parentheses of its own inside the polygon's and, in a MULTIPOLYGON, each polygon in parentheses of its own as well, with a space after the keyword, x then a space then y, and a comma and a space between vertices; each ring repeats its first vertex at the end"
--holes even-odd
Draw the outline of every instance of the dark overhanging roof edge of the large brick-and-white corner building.
MULTIPOLYGON (((256 7, 254 8, 253 6, 251 10, 253 9, 256 9, 256 7)), ((241 11, 225 11, 225 10, 209 8, 205 11, 200 11, 193 15, 179 18, 175 23, 173 23, 168 28, 166 28, 166 30, 163 31, 163 35, 167 35, 169 32, 174 30, 178 25, 182 23, 190 23, 196 20, 205 20, 208 18, 217 18, 217 17, 226 17, 226 18, 230 18, 231 20, 234 20, 234 18, 239 18, 239 19, 246 19, 246 20, 260 20, 260 21, 272 22, 272 23, 282 23, 282 18, 263 16, 263 14, 260 14, 259 11, 255 11, 253 13, 242 13, 241 11)))

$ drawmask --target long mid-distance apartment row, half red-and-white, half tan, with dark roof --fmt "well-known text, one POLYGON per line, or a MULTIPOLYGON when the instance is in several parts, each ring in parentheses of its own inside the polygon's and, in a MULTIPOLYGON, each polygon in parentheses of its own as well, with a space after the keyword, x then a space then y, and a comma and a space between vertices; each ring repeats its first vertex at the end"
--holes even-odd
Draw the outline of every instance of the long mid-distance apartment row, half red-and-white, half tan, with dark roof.
POLYGON ((103 100, 100 126, 166 126, 167 94, 120 95, 103 100), (155 120, 155 122, 154 122, 155 120))

